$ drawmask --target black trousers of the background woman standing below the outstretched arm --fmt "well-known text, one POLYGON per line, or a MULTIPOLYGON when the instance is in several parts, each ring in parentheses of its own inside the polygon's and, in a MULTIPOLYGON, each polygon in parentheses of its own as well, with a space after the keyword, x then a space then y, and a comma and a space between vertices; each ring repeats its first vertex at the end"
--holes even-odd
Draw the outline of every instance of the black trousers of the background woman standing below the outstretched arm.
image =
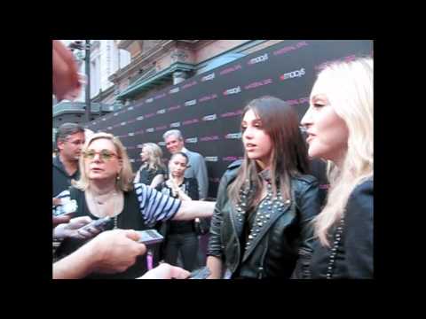
POLYGON ((176 266, 177 253, 179 252, 182 256, 184 268, 192 271, 196 267, 198 253, 198 237, 195 233, 168 235, 164 261, 176 266))

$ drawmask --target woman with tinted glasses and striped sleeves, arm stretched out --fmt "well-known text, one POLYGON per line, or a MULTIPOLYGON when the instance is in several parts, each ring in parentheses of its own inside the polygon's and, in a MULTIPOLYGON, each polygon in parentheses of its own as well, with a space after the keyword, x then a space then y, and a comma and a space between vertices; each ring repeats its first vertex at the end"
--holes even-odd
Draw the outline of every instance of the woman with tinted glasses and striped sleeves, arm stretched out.
MULTIPOLYGON (((130 161, 120 140, 107 133, 92 135, 83 147, 79 160, 81 178, 59 197, 75 199, 75 217, 89 215, 96 220, 109 216, 114 229, 152 229, 156 222, 169 219, 193 220, 213 214, 214 203, 185 202, 170 198, 142 183, 133 184, 130 161)), ((66 200, 67 201, 67 200, 66 200)), ((59 247, 62 255, 74 252, 99 230, 81 230, 81 238, 67 238, 59 247)), ((90 278, 136 278, 150 265, 146 255, 126 271, 114 274, 91 274, 90 278)))

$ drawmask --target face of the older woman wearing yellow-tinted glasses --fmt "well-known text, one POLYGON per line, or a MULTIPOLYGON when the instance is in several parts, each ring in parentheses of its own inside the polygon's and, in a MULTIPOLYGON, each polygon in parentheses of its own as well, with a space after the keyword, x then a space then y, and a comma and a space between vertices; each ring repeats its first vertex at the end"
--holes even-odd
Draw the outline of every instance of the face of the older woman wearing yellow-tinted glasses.
POLYGON ((122 169, 113 142, 106 138, 94 140, 84 156, 86 175, 90 180, 115 180, 122 169))

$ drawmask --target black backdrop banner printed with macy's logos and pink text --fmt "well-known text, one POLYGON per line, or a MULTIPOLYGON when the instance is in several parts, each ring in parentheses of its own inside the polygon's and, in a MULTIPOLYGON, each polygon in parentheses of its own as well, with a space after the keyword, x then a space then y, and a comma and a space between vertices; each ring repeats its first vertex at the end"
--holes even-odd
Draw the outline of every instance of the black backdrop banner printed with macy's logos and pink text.
POLYGON ((302 119, 323 66, 372 55, 373 41, 368 40, 284 41, 154 92, 85 127, 120 137, 135 171, 141 164, 142 144, 159 144, 164 157, 170 158, 162 135, 168 129, 180 129, 185 147, 206 159, 209 197, 216 198, 226 167, 242 158, 241 110, 250 100, 280 97, 302 119))

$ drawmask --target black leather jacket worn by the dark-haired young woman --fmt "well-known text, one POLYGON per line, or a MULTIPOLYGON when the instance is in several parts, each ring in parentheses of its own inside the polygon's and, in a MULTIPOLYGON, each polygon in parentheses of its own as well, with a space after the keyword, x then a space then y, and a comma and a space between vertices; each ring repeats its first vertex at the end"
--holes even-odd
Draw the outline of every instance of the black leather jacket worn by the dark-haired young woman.
POLYGON ((223 269, 232 274, 238 268, 242 277, 308 278, 314 241, 311 221, 319 214, 320 206, 316 178, 312 175, 292 178, 296 203, 292 200, 272 214, 241 256, 243 222, 236 217, 236 207, 227 192, 240 166, 241 161, 231 164, 219 184, 207 254, 220 258, 223 269), (296 206, 292 208, 292 204, 296 206))

